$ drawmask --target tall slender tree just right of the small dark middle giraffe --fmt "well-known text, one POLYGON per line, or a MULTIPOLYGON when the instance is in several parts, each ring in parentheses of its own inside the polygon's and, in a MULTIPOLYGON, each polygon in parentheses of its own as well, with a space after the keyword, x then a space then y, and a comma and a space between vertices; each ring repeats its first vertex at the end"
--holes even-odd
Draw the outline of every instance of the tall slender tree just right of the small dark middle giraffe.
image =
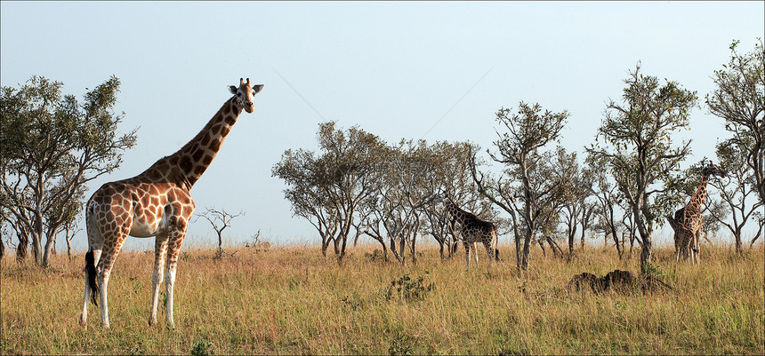
POLYGON ((491 159, 504 165, 500 178, 492 178, 476 170, 476 157, 471 158, 472 178, 479 192, 512 218, 515 235, 516 268, 528 269, 528 253, 535 233, 544 225, 544 213, 555 210, 560 202, 562 178, 551 169, 550 152, 541 152, 555 141, 566 123, 568 112, 542 112, 539 104, 519 103, 517 113, 500 108, 496 121, 503 131, 496 131, 494 142, 498 154, 488 152, 491 159), (523 241, 521 252, 520 241, 523 241))

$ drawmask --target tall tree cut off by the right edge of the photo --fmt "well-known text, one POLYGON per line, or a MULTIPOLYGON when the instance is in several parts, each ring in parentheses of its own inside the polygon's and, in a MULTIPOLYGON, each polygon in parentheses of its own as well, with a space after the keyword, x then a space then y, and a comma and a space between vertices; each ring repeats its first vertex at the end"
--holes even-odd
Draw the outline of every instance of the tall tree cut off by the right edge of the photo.
POLYGON ((730 44, 728 65, 714 71, 717 88, 706 95, 706 105, 733 134, 725 144, 740 147, 746 166, 753 170, 760 202, 765 204, 765 48, 759 39, 753 51, 739 54, 738 44, 730 44))

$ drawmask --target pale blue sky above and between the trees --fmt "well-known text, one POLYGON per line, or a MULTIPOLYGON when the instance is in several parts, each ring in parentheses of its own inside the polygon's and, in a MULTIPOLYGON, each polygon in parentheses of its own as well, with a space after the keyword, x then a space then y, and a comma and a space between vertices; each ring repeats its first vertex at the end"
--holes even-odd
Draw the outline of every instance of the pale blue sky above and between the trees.
MULTIPOLYGON (((292 218, 270 170, 288 148, 315 148, 320 122, 358 124, 388 142, 424 135, 485 149, 496 110, 524 100, 568 110, 561 142, 582 151, 640 60, 642 73, 698 92, 691 130, 677 138, 693 138, 695 162, 725 137, 703 105, 713 71, 733 39, 751 51, 765 37, 763 2, 2 2, 0 10, 2 85, 44 75, 81 96, 109 75, 122 81, 117 109, 124 131, 141 127, 138 146, 90 193, 176 151, 239 77, 264 83, 254 113, 243 114, 191 194, 197 211, 246 211, 227 230, 232 240, 261 229, 277 243, 317 241, 292 218)), ((84 233, 75 240, 85 246, 84 233)), ((154 239, 131 240, 128 249, 153 248, 154 239)), ((190 225, 184 247, 212 243, 206 221, 190 225)))

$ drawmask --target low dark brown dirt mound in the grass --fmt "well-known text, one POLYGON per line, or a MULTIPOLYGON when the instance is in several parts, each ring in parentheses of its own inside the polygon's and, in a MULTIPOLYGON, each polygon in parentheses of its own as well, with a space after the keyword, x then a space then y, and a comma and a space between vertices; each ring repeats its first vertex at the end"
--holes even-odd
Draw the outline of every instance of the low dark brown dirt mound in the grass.
POLYGON ((672 290, 672 287, 654 276, 635 277, 631 272, 622 270, 614 270, 600 278, 592 273, 576 274, 566 287, 568 291, 579 291, 588 288, 595 294, 607 292, 608 290, 620 293, 628 293, 637 289, 640 289, 643 293, 672 290))

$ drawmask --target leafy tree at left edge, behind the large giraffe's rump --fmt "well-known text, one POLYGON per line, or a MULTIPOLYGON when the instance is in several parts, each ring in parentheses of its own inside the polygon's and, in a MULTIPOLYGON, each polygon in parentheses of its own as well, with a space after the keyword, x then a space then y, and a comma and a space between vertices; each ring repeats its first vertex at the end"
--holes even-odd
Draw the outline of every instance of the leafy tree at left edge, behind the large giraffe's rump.
POLYGON ((125 116, 114 112, 117 77, 87 91, 82 103, 62 95, 62 86, 33 76, 19 89, 0 92, 2 202, 15 220, 17 253, 29 238, 38 265, 48 264, 55 234, 68 218, 60 207, 78 199, 87 182, 117 169, 136 138, 136 130, 117 135, 125 116))

